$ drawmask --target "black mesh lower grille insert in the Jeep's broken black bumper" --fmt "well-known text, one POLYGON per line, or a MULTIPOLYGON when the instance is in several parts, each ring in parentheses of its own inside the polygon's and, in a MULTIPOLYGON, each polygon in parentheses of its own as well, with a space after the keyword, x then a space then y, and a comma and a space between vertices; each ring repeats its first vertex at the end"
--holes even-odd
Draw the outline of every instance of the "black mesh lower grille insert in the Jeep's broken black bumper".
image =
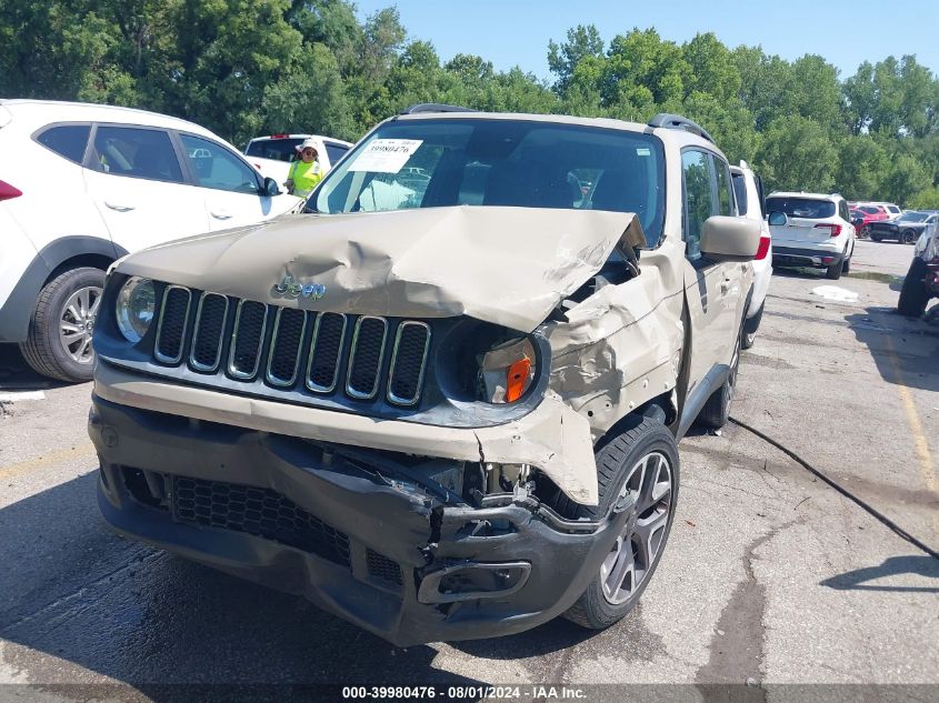
POLYGON ((349 566, 349 536, 270 489, 173 476, 177 522, 247 532, 349 566))

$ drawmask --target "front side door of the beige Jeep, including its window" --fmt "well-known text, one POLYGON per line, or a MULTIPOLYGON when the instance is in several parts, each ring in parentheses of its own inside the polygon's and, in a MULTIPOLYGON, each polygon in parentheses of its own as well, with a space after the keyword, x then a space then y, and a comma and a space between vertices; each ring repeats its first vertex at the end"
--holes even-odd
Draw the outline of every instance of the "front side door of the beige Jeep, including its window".
POLYGON ((708 151, 689 148, 681 152, 681 169, 685 295, 691 323, 688 391, 693 394, 708 374, 716 375, 721 371, 721 364, 730 363, 736 342, 733 315, 739 308, 741 264, 713 262, 700 251, 705 221, 715 214, 736 212, 730 172, 719 175, 727 164, 708 151), (716 161, 719 169, 715 168, 716 161))

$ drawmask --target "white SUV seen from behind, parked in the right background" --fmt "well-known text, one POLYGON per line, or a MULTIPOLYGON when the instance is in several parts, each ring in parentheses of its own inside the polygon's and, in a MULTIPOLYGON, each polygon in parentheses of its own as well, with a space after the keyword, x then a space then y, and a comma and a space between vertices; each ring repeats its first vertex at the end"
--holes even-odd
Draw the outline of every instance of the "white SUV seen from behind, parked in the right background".
POLYGON ((771 193, 766 201, 775 267, 813 267, 837 281, 851 268, 855 225, 838 193, 771 193))

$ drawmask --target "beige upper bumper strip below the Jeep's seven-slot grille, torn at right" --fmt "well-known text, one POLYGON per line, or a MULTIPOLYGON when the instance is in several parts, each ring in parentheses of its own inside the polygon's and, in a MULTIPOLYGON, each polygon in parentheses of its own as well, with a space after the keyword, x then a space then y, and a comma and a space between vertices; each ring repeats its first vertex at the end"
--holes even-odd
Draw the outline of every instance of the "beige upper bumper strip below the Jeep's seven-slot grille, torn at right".
POLYGON ((582 505, 598 500, 587 419, 550 391, 528 414, 467 429, 376 420, 348 412, 236 395, 126 371, 99 358, 94 393, 143 410, 338 444, 461 461, 531 464, 582 505))

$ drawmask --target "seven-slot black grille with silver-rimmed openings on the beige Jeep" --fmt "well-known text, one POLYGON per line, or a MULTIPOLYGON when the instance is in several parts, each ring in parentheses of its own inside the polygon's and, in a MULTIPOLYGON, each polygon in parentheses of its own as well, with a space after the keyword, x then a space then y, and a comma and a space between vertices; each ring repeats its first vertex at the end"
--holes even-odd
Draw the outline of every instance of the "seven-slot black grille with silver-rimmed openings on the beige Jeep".
POLYGON ((431 337, 424 322, 306 312, 178 285, 160 302, 153 356, 162 364, 360 401, 382 392, 396 405, 420 401, 431 337))

